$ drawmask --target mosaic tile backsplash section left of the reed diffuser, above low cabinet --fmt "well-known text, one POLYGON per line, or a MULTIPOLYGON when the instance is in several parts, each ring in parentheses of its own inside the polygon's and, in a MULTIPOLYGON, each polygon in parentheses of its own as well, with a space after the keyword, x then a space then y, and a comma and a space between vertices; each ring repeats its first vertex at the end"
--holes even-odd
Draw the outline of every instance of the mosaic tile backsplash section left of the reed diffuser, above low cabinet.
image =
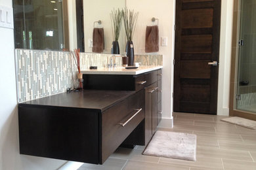
POLYGON ((15 50, 18 103, 65 92, 74 79, 69 52, 15 50))

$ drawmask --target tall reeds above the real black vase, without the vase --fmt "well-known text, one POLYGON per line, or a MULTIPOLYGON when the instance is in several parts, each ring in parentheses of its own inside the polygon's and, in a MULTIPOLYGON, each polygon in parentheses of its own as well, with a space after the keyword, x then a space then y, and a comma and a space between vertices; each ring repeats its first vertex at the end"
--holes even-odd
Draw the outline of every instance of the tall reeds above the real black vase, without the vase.
POLYGON ((123 24, 125 26, 127 41, 132 41, 139 12, 134 12, 134 10, 128 10, 127 8, 121 12, 123 14, 123 24))

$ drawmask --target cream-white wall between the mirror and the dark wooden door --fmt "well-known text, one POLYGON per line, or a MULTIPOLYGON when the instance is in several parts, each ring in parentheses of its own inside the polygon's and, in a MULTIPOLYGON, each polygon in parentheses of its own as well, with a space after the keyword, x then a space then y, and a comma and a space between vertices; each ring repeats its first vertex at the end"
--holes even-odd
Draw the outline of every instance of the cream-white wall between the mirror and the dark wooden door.
POLYGON ((127 8, 139 11, 137 27, 133 36, 135 54, 145 52, 146 25, 152 25, 151 19, 158 18, 159 37, 167 37, 167 46, 160 46, 158 54, 163 54, 162 110, 163 118, 171 118, 173 110, 173 54, 175 0, 127 0, 127 8))

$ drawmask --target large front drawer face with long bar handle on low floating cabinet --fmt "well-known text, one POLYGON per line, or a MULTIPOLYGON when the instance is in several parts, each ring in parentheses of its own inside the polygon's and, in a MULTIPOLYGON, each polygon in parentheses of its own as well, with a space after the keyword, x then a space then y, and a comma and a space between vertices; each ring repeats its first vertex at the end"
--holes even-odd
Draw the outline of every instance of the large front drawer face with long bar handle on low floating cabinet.
POLYGON ((144 119, 144 90, 102 112, 103 163, 144 119))

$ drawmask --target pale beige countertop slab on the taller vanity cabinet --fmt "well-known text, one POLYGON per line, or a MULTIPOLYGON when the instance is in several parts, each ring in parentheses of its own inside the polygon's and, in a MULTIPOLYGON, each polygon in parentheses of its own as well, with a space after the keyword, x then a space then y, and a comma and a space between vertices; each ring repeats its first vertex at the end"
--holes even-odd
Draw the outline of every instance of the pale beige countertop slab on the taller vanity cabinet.
POLYGON ((98 69, 87 69, 81 71, 81 73, 86 75, 139 75, 149 71, 154 71, 162 69, 163 66, 140 66, 137 69, 125 69, 125 67, 116 68, 98 68, 98 69))

